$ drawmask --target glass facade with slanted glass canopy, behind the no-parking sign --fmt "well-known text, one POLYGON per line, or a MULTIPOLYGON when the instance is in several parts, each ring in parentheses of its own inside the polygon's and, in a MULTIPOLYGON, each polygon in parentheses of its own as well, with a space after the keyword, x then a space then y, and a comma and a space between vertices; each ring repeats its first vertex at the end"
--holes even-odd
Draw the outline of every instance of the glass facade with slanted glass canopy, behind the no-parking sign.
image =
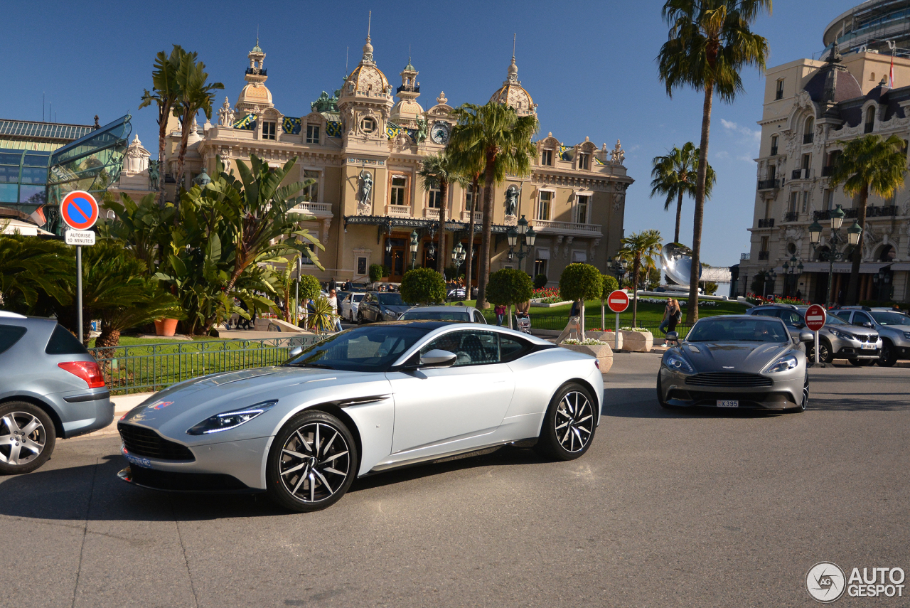
POLYGON ((117 118, 53 151, 0 148, 0 207, 34 216, 42 228, 61 234, 59 206, 66 194, 102 193, 119 177, 130 118, 117 118))

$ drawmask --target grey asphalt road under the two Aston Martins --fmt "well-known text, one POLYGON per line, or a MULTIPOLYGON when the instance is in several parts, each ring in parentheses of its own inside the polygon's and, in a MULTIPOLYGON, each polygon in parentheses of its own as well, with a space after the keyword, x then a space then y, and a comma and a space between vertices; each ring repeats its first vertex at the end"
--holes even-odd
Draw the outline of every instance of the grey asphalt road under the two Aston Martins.
MULTIPOLYGON (((910 370, 812 370, 803 414, 667 412, 658 362, 617 355, 579 461, 501 450, 311 514, 129 487, 115 438, 62 441, 0 478, 0 605, 804 606, 815 562, 910 573, 910 370)), ((837 602, 879 604, 907 600, 837 602)))

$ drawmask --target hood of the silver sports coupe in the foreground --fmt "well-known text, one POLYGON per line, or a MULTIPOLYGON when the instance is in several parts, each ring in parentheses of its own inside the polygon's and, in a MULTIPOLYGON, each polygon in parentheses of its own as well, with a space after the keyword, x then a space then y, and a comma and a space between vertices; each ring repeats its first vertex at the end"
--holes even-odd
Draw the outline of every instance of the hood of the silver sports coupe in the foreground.
MULTIPOLYGON (((344 399, 349 394, 388 392, 385 374, 358 371, 319 370, 297 367, 269 367, 232 371, 203 376, 158 391, 129 410, 121 421, 138 424, 161 432, 162 435, 185 443, 234 441, 269 432, 255 431, 252 422, 237 431, 211 435, 187 435, 187 429, 216 414, 248 408, 265 401, 278 400, 276 410, 297 407, 312 391, 329 390, 331 399, 344 399), (364 383, 379 380, 378 387, 360 389, 364 383)), ((271 413, 271 412, 269 412, 271 413)), ((264 417, 265 415, 263 415, 264 417)))

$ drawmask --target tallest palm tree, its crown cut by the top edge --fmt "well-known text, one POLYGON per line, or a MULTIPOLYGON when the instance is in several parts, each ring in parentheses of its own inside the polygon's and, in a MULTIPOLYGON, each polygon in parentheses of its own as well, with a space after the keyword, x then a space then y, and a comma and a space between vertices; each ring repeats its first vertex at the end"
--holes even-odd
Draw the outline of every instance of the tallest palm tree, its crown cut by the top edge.
MULTIPOLYGON (((733 101, 743 91, 739 71, 743 66, 764 69, 768 41, 753 34, 749 25, 764 11, 771 13, 771 0, 667 0, 662 16, 670 25, 669 40, 657 56, 660 78, 667 96, 682 86, 703 91, 702 141, 699 158, 708 160, 711 106, 716 91, 723 101, 733 101)), ((692 234, 692 276, 689 279, 689 310, 686 320, 698 319, 698 273, 702 249, 702 220, 708 163, 698 164, 692 234)))

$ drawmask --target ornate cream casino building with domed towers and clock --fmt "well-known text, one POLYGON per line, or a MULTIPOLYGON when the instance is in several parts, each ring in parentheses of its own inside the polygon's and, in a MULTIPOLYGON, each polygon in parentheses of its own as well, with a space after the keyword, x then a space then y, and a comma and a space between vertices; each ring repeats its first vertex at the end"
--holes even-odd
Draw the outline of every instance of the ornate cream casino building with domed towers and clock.
MULTIPOLYGON (((311 268, 322 280, 365 279, 371 264, 383 264, 389 269, 387 280, 399 281, 412 265, 435 268, 439 255, 446 257, 449 266, 457 243, 465 248, 473 243, 475 254, 480 247, 479 211, 475 232, 469 234, 476 193, 454 185, 443 201, 438 190, 425 190, 417 176, 421 158, 439 152, 449 141, 456 124, 449 100, 440 93, 424 109, 419 72, 410 59, 399 72, 399 85, 393 86, 373 51, 368 35, 359 64, 342 86, 333 95, 323 92, 308 113, 301 113, 273 99, 267 86, 266 53, 257 41, 248 54, 236 101, 231 104, 226 97, 214 123, 190 127, 182 176, 187 184, 210 179, 216 157, 228 170, 240 160, 248 162, 251 154, 275 166, 298 157, 288 181, 314 182, 303 193, 306 202, 293 212, 326 248, 319 252, 325 270, 311 268), (438 251, 442 205, 447 207, 447 241, 438 251), (413 257, 412 234, 418 238, 413 257)), ((536 116, 537 105, 521 86, 514 57, 506 79, 490 99, 509 104, 521 115, 536 116)), ((167 197, 173 200, 180 139, 176 119, 169 128, 161 173, 167 197)), ((633 181, 623 166, 620 142, 608 150, 606 144, 597 147, 586 137, 567 146, 548 134, 535 145, 531 175, 509 176, 496 188, 491 271, 518 267, 518 258, 509 258, 506 233, 522 216, 538 235, 530 255, 522 260, 523 269, 546 274, 551 284, 571 262, 589 262, 605 271, 620 247, 625 191, 633 181)), ((157 176, 148 174, 150 157, 136 137, 126 149, 123 171, 110 191, 135 198, 153 189, 157 176)), ((474 263, 476 278, 476 255, 474 263)), ((460 272, 464 270, 462 266, 460 272)))

